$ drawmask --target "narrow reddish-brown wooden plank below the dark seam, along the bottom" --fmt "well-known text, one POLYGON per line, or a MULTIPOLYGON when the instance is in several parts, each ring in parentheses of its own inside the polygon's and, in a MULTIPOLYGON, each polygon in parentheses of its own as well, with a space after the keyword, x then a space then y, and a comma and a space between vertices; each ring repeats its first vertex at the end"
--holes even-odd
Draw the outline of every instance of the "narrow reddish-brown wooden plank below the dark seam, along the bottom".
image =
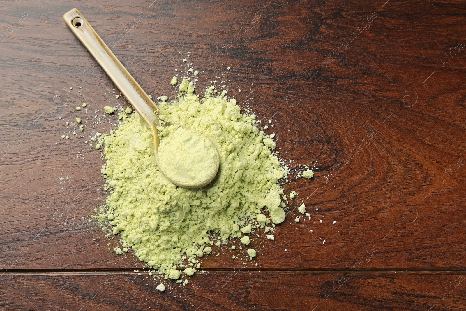
POLYGON ((5 285, 0 289, 2 310, 464 310, 466 293, 459 281, 465 279, 464 273, 349 276, 224 271, 198 275, 186 286, 170 286, 163 293, 146 276, 5 274, 0 276, 5 285), (343 276, 348 279, 340 281, 332 294, 329 288, 343 276))

